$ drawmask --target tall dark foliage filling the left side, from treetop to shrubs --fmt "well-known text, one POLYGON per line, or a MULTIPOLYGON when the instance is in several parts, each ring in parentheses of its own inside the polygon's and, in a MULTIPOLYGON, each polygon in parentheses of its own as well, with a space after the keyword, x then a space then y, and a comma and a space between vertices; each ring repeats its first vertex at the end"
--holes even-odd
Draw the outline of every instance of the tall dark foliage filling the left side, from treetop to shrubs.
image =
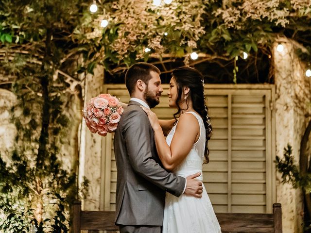
POLYGON ((5 232, 34 227, 38 233, 69 232, 77 164, 62 164, 60 155, 69 140, 72 94, 57 70, 76 67, 66 56, 76 50, 69 35, 83 5, 69 0, 4 0, 0 5, 0 33, 12 38, 1 45, 6 56, 0 66, 16 77, 12 91, 18 100, 12 109, 15 150, 9 163, 0 155, 0 229, 5 232))

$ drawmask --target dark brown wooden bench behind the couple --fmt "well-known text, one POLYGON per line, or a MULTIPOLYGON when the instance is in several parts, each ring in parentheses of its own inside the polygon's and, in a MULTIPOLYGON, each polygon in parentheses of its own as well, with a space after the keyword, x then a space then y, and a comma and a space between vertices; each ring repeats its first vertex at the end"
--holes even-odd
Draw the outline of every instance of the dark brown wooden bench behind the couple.
MULTIPOLYGON (((273 204, 273 214, 216 214, 222 233, 282 233, 281 204, 273 204)), ((118 231, 114 224, 114 211, 82 211, 81 201, 73 205, 73 233, 88 230, 96 233, 100 230, 118 231)))

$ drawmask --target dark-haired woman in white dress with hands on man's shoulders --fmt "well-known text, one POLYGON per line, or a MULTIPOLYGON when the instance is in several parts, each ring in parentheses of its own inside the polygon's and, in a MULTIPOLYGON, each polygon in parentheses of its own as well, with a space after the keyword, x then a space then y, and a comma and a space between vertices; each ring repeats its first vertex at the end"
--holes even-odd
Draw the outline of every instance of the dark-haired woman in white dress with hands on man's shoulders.
MULTIPOLYGON (((154 130, 158 156, 176 175, 187 177, 201 172, 197 179, 203 181, 202 164, 208 163, 207 142, 212 128, 202 74, 190 67, 175 69, 168 96, 170 107, 177 108, 173 120, 158 120, 155 113, 141 106, 154 130)), ((166 193, 163 233, 221 233, 204 185, 202 198, 185 194, 177 198, 166 193)))

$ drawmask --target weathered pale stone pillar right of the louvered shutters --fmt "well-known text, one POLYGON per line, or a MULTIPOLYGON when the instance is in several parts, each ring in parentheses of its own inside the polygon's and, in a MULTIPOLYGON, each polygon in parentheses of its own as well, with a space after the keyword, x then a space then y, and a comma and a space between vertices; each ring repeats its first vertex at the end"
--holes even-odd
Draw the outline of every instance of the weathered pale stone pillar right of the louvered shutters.
MULTIPOLYGON (((310 118, 310 78, 305 76, 306 68, 295 55, 291 41, 282 41, 284 50, 273 51, 276 84, 276 155, 283 157, 284 148, 289 143, 293 147, 296 163, 299 162, 301 137, 310 118)), ((280 183, 276 174, 276 200, 282 204, 283 233, 302 232, 303 199, 299 189, 291 184, 280 183)))

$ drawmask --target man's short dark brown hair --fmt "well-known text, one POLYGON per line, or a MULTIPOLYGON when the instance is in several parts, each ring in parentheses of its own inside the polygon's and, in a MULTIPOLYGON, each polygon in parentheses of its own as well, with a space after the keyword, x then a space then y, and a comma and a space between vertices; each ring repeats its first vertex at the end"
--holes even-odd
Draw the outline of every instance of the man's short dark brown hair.
POLYGON ((152 78, 150 71, 155 71, 158 74, 161 73, 157 67, 146 62, 138 62, 128 68, 125 74, 125 85, 130 95, 135 92, 135 86, 139 79, 148 84, 152 78))

